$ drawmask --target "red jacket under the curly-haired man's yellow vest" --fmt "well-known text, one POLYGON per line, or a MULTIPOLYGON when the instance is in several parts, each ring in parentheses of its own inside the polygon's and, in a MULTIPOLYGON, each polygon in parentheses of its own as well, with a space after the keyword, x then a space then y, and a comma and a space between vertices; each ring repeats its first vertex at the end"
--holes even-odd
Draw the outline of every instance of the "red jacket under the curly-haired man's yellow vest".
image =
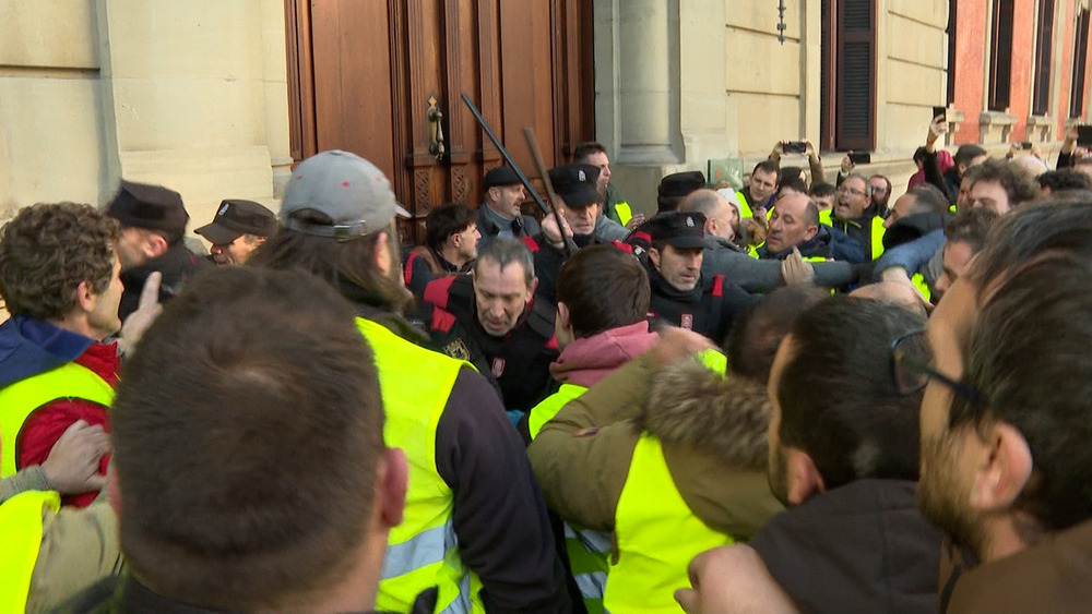
MULTIPOLYGON (((73 362, 92 370, 111 387, 117 387, 118 368, 121 364, 117 344, 93 344, 73 362)), ((107 432, 110 430, 107 423, 107 408, 84 399, 57 399, 34 410, 23 423, 19 434, 16 465, 19 467, 41 465, 49 457, 49 450, 64 430, 81 419, 88 424, 100 424, 107 432)), ((109 455, 104 456, 99 465, 98 470, 104 475, 109 459, 109 455)), ((70 495, 62 497, 61 503, 86 507, 96 496, 97 492, 70 495)))

